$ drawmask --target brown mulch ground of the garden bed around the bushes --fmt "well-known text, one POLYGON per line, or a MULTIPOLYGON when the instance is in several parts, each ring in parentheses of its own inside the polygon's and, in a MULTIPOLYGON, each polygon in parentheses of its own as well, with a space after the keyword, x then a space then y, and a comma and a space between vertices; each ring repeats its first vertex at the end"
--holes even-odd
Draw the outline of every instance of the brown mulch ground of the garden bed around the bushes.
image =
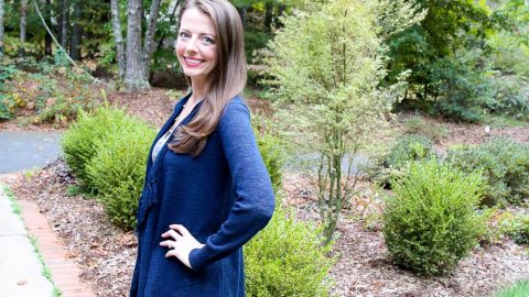
MULTIPOLYGON (((152 89, 144 94, 110 94, 109 101, 123 106, 130 113, 160 127, 169 117, 175 98, 183 92, 168 94, 152 89)), ((249 98, 253 112, 269 112, 257 98, 249 98)), ((449 135, 438 144, 440 150, 462 143, 479 143, 492 135, 510 135, 529 142, 529 128, 493 129, 484 125, 446 124, 449 135)), ((50 127, 18 127, 15 121, 0 123, 0 130, 54 130, 50 127)), ((64 129, 64 128, 61 128, 64 129)), ((60 129, 60 130, 61 130, 60 129)), ((136 260, 137 241, 132 232, 114 228, 101 206, 93 198, 68 195, 75 184, 61 160, 46 168, 21 174, 11 187, 19 199, 39 204, 54 231, 62 238, 68 255, 82 266, 82 278, 97 296, 128 296, 136 260)), ((489 296, 498 287, 529 278, 528 246, 504 238, 494 245, 476 248, 447 277, 420 277, 391 264, 380 230, 381 202, 368 190, 352 201, 342 213, 338 238, 333 254, 337 262, 332 270, 336 296, 489 296)), ((317 220, 313 185, 305 174, 285 172, 285 204, 293 206, 300 219, 317 220)))

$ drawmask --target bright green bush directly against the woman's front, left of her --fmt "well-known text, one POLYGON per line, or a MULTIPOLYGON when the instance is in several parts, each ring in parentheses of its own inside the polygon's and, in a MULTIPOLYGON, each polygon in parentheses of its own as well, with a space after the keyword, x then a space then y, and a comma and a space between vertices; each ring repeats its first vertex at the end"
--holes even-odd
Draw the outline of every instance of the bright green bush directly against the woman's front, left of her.
POLYGON ((147 156, 155 131, 141 122, 94 142, 97 154, 86 166, 114 224, 136 226, 138 198, 143 186, 147 156))

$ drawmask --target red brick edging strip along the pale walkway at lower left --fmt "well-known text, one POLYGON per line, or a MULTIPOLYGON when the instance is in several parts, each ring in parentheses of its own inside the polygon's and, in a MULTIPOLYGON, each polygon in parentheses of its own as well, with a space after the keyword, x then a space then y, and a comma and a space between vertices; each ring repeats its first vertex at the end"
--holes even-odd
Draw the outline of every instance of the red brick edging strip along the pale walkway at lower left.
POLYGON ((62 297, 94 297, 91 288, 80 282, 80 270, 66 256, 65 248, 53 232, 47 219, 39 211, 39 206, 29 200, 18 200, 21 217, 28 232, 36 240, 46 267, 52 273, 55 286, 62 297))

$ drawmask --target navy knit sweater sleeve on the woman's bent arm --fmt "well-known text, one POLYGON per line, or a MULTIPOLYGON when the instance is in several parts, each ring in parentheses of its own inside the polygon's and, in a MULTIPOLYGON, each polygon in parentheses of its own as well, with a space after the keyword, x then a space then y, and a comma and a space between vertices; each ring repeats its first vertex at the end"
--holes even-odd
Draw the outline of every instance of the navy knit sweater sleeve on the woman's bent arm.
POLYGON ((190 254, 193 270, 202 270, 249 241, 267 226, 274 209, 274 194, 257 146, 248 108, 231 101, 219 120, 218 132, 229 165, 235 204, 219 230, 202 249, 190 254))

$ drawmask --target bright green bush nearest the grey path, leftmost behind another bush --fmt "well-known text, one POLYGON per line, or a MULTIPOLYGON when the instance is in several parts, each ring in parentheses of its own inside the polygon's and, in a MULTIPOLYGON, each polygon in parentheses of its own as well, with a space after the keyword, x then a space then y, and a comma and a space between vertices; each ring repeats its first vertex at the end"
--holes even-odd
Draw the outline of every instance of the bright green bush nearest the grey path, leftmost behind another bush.
POLYGON ((96 142, 105 142, 108 135, 122 133, 134 123, 123 110, 107 105, 91 113, 82 111, 77 121, 64 134, 61 142, 64 158, 86 190, 95 190, 86 165, 97 153, 96 142))

